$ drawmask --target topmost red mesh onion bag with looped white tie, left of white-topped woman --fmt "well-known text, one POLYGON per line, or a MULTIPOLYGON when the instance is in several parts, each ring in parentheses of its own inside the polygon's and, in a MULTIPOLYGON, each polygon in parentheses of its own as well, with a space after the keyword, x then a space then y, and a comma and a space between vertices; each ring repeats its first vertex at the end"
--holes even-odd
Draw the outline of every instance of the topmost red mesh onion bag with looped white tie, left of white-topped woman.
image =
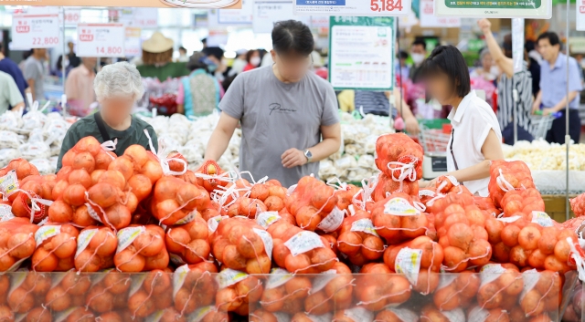
POLYGON ((376 141, 376 166, 388 178, 414 182, 422 178, 420 144, 404 133, 382 135, 376 141))

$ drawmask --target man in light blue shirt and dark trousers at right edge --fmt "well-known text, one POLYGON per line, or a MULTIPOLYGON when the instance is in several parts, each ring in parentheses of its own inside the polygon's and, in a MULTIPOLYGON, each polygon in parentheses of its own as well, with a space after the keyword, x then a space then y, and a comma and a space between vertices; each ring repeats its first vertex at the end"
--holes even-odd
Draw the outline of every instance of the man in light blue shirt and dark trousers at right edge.
POLYGON ((566 106, 569 99, 569 135, 570 139, 579 143, 581 121, 579 117, 579 94, 583 90, 579 76, 579 66, 573 57, 560 52, 558 35, 545 32, 538 36, 538 52, 542 55, 540 64, 540 91, 534 100, 532 110, 537 111, 542 105, 544 115, 560 112, 561 117, 555 119, 548 130, 548 142, 565 143, 566 106), (567 68, 569 68, 569 98, 567 98, 567 68))

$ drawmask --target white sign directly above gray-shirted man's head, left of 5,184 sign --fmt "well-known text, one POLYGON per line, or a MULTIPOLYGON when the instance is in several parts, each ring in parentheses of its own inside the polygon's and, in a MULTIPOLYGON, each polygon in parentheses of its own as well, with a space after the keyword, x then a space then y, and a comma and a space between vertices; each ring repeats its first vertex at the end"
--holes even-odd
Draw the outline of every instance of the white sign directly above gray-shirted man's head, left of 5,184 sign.
POLYGON ((255 0, 253 7, 252 30, 255 33, 270 33, 274 23, 282 20, 299 20, 311 25, 310 16, 294 16, 293 2, 282 0, 255 0))

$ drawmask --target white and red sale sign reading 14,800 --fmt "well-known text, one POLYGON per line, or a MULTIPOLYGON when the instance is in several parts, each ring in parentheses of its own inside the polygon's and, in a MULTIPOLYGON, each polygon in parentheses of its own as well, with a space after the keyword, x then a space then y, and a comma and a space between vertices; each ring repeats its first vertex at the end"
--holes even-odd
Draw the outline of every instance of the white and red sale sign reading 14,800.
POLYGON ((125 57, 123 24, 79 24, 79 57, 125 57))

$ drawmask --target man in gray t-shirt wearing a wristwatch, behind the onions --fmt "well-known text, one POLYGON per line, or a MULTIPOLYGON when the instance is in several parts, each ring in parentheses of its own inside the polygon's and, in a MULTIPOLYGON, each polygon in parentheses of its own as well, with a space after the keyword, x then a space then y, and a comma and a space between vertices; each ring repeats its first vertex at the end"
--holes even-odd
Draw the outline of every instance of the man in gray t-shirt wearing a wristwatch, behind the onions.
POLYGON ((334 89, 309 71, 309 27, 296 20, 276 23, 272 47, 274 65, 240 74, 219 103, 221 118, 205 156, 217 161, 240 121, 239 171, 288 187, 317 175, 319 161, 339 150, 341 130, 334 89))

